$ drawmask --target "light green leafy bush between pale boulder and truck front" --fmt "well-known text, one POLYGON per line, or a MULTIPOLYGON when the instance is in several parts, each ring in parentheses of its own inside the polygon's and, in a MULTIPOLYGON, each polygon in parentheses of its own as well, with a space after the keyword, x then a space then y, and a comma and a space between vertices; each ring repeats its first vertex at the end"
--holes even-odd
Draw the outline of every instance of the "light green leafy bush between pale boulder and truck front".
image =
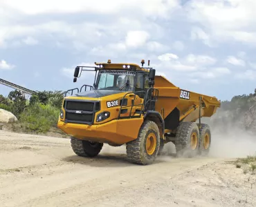
POLYGON ((48 132, 57 127, 60 110, 49 104, 35 103, 21 113, 20 121, 26 132, 48 132))

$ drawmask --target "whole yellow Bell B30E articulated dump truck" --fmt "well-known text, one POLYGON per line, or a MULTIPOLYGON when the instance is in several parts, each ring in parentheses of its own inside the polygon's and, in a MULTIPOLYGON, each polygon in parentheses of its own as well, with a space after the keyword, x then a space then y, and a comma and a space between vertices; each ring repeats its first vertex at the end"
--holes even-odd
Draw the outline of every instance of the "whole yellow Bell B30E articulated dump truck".
POLYGON ((71 136, 73 152, 95 157, 103 144, 125 144, 131 163, 147 165, 172 141, 178 156, 207 155, 212 137, 201 117, 211 117, 220 101, 182 90, 155 75, 149 61, 148 67, 143 67, 144 60, 141 63, 140 67, 108 60, 75 68, 74 82, 83 71, 93 71, 95 77, 93 86, 73 88, 64 95, 57 126, 71 136))

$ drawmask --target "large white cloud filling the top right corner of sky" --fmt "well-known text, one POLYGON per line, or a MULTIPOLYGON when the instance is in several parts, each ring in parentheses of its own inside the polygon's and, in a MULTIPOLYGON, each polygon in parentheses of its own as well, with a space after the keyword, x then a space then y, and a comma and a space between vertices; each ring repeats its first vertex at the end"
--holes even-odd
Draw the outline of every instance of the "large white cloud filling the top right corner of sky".
POLYGON ((201 39, 207 45, 223 41, 256 43, 255 9, 254 0, 189 1, 188 19, 205 28, 192 30, 192 38, 201 39))

